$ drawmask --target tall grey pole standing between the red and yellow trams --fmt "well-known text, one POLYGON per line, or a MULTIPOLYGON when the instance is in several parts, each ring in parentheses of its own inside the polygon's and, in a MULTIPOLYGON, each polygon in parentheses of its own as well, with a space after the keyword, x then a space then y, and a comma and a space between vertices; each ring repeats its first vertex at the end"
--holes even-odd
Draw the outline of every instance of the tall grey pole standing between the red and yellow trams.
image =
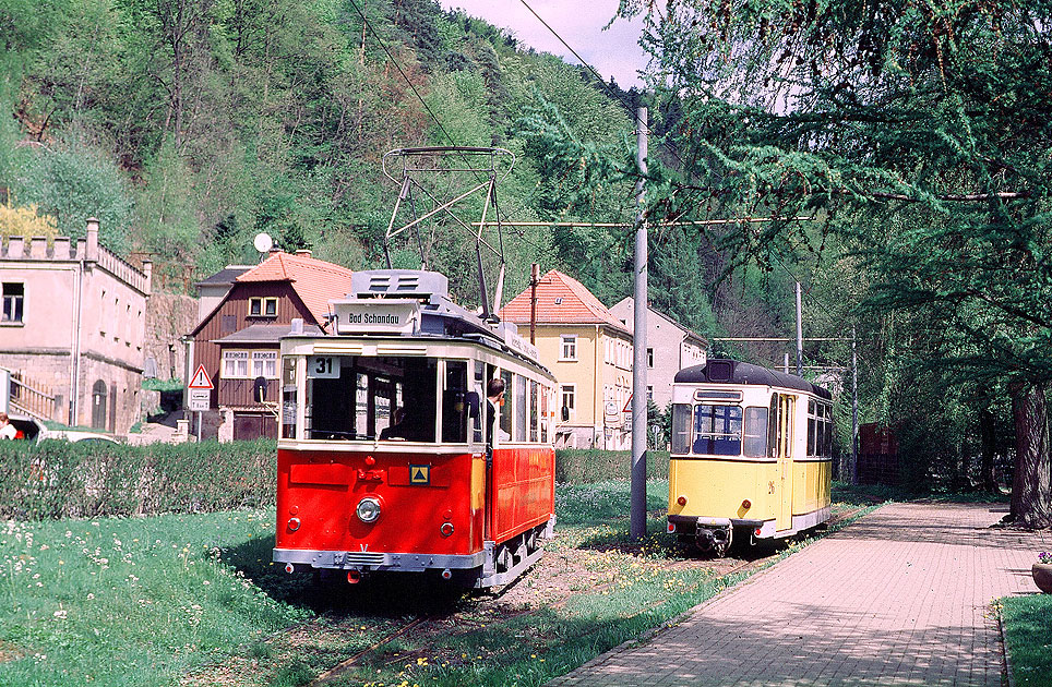
POLYGON ((632 308, 632 479, 630 534, 633 539, 646 535, 646 314, 647 302, 647 237, 644 203, 646 190, 647 111, 641 107, 636 114, 636 161, 639 181, 635 184, 635 303, 632 308))

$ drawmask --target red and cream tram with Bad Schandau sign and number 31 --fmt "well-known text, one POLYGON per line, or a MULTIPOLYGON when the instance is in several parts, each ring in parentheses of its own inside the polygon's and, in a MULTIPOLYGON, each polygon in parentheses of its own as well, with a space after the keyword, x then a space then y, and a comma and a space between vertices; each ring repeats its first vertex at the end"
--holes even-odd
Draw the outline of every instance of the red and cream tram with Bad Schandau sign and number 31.
POLYGON ((441 274, 359 272, 351 286, 332 301, 333 334, 282 340, 274 561, 351 582, 507 583, 554 526, 554 378, 514 325, 455 304, 441 274))

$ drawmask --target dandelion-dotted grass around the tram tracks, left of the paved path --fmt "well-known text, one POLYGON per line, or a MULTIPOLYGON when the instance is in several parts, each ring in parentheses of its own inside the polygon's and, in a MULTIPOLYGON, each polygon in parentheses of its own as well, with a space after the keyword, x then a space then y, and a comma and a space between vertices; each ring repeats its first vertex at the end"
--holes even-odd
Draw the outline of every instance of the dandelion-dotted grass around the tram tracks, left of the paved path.
POLYGON ((748 575, 677 565, 667 490, 641 545, 627 482, 559 485, 546 557, 571 587, 514 613, 417 584, 335 598, 271 565, 271 510, 0 523, 0 685, 303 685, 359 653, 326 684, 539 685, 748 575), (449 630, 385 641, 417 617, 449 630))

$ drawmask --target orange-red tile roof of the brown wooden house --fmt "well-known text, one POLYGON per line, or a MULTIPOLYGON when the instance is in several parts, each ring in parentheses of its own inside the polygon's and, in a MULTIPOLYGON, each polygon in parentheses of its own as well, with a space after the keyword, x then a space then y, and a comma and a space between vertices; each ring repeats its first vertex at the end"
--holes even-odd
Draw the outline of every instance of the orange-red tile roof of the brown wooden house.
POLYGON ((323 260, 289 253, 274 253, 265 261, 239 276, 235 281, 288 281, 318 324, 325 322, 328 301, 350 293, 350 277, 346 267, 323 260))

